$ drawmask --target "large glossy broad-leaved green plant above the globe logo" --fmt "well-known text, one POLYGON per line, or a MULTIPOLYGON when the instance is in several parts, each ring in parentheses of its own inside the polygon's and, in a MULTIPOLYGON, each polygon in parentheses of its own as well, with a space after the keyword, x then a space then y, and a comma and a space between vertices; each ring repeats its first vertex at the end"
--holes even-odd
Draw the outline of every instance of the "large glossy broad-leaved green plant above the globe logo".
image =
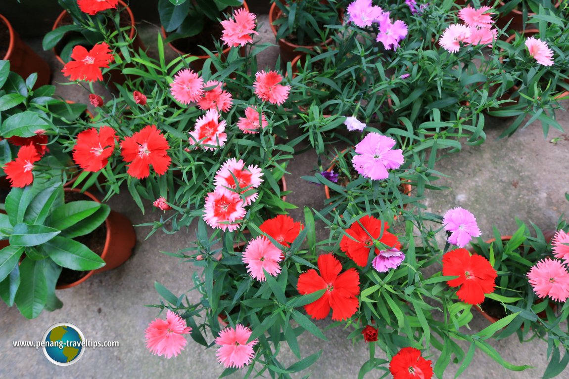
POLYGON ((13 188, 5 209, 6 214, 0 214, 1 238, 9 245, 0 252, 0 293, 7 305, 15 304, 26 318, 63 306, 55 295, 63 268, 85 271, 105 265, 101 256, 76 238, 104 223, 108 206, 93 201, 64 203, 63 185, 53 178, 13 188))

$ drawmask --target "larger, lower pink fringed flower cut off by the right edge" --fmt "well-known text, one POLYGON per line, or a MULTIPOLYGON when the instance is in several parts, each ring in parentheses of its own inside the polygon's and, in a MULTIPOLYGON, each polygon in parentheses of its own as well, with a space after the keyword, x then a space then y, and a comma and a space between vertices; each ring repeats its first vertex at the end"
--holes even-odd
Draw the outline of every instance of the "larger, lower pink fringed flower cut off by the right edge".
POLYGON ((569 272, 561 261, 549 258, 539 261, 527 277, 540 298, 549 296, 562 302, 569 298, 569 272))

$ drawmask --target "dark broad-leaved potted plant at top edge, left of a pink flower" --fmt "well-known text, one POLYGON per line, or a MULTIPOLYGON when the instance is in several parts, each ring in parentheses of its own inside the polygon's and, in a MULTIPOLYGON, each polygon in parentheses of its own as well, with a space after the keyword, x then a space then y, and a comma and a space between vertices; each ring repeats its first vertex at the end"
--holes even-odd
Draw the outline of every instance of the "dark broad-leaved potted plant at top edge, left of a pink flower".
POLYGON ((176 53, 196 57, 191 65, 199 71, 209 58, 208 52, 217 50, 216 54, 228 54, 230 47, 221 47, 216 43, 223 29, 218 19, 223 19, 224 13, 232 13, 232 10, 240 7, 249 11, 244 0, 182 0, 176 3, 159 0, 162 34, 176 53))

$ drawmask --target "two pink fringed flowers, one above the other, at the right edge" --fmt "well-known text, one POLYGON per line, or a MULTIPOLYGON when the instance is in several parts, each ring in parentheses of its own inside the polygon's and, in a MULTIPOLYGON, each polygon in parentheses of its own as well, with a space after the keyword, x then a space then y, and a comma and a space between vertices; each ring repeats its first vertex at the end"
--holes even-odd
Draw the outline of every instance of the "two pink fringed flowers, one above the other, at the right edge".
POLYGON ((558 259, 546 258, 533 266, 527 278, 540 298, 549 296, 555 301, 565 302, 569 298, 569 235, 557 231, 551 245, 553 255, 558 259), (563 261, 561 261, 563 260, 563 261))

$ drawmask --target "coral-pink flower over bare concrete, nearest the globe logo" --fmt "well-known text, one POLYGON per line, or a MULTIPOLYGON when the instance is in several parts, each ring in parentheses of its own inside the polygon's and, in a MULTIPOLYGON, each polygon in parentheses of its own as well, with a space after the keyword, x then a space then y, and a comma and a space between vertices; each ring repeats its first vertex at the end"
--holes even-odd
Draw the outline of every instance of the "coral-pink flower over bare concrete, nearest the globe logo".
POLYGON ((168 310, 166 320, 157 318, 146 328, 146 347, 154 355, 171 358, 184 349, 187 341, 183 334, 191 331, 192 328, 186 326, 184 319, 168 310))

